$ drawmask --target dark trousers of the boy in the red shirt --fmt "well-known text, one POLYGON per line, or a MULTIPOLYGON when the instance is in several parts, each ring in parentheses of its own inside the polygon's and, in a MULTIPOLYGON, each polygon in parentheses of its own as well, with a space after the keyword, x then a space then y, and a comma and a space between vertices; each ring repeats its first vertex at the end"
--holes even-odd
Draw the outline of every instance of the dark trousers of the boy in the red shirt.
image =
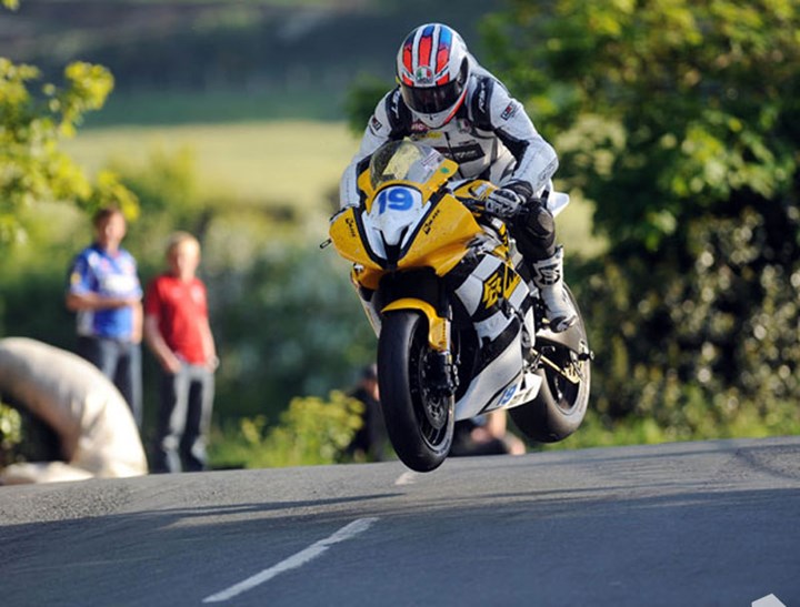
POLYGON ((213 373, 184 364, 161 377, 161 407, 151 469, 154 473, 206 469, 206 444, 213 407, 213 373))

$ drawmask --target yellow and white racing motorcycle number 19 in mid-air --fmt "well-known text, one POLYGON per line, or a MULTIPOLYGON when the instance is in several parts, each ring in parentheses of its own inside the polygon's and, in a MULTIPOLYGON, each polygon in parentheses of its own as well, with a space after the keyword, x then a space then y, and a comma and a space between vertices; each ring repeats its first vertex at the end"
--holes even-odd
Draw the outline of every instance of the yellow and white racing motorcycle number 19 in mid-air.
MULTIPOLYGON (((392 141, 358 179, 361 204, 331 217, 330 241, 378 336, 389 439, 409 468, 447 458, 454 422, 503 408, 536 442, 562 441, 586 415, 592 352, 578 321, 549 330, 544 306, 488 181, 419 142, 392 141)), ((553 214, 569 203, 549 192, 553 214)))

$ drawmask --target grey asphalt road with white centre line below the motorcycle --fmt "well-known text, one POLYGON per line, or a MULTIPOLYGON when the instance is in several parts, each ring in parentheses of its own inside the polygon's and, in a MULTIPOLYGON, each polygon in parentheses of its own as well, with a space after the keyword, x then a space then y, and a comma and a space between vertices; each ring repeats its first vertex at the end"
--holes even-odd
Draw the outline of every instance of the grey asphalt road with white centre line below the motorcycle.
POLYGON ((800 606, 800 437, 0 487, 3 607, 769 595, 800 606))

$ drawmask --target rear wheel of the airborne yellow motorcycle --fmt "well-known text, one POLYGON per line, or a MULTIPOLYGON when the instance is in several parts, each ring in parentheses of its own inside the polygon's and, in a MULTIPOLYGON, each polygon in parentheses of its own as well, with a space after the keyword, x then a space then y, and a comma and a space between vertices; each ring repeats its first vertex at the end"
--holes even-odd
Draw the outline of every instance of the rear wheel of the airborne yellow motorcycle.
POLYGON ((537 336, 537 348, 559 366, 572 365, 580 375, 574 384, 550 366, 542 366, 537 374, 542 378, 542 386, 536 398, 509 409, 509 415, 517 427, 528 437, 539 443, 557 443, 563 441, 578 429, 586 416, 591 390, 591 358, 589 341, 583 324, 583 316, 569 287, 564 290, 578 311, 578 322, 567 331, 577 332, 581 343, 581 352, 574 352, 563 344, 540 340, 537 336))

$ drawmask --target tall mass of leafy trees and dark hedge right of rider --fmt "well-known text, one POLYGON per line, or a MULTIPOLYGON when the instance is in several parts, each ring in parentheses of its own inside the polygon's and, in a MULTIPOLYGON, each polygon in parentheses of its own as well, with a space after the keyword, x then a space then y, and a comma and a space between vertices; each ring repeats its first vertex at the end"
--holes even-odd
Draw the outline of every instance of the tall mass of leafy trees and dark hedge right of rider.
POLYGON ((496 71, 611 243, 582 269, 596 406, 681 432, 797 402, 798 0, 513 0, 496 71))

